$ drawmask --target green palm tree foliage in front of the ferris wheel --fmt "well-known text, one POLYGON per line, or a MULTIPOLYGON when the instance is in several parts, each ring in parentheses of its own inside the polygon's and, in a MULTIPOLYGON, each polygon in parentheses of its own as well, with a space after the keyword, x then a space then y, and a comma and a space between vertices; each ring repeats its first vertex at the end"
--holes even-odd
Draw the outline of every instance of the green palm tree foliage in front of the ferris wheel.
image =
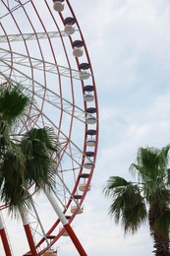
POLYGON ((6 83, 0 89, 0 200, 10 213, 25 214, 32 205, 28 187, 36 191, 55 186, 56 138, 52 128, 32 128, 17 135, 28 116, 29 97, 21 85, 6 83), (15 135, 16 133, 16 135, 15 135))

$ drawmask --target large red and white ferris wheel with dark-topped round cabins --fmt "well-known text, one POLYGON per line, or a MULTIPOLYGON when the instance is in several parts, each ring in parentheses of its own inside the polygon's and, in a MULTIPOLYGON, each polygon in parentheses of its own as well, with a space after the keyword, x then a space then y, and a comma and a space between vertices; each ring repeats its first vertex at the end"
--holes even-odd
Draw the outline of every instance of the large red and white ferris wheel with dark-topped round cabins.
POLYGON ((15 232, 10 229, 8 206, 0 204, 4 255, 57 255, 54 245, 63 235, 86 255, 71 224, 85 212, 83 203, 90 191, 98 105, 84 35, 69 0, 1 0, 0 84, 7 81, 21 84, 31 99, 19 133, 53 127, 60 155, 55 193, 37 195, 30 187, 34 203, 15 232), (27 241, 21 252, 12 242, 18 230, 27 241))

